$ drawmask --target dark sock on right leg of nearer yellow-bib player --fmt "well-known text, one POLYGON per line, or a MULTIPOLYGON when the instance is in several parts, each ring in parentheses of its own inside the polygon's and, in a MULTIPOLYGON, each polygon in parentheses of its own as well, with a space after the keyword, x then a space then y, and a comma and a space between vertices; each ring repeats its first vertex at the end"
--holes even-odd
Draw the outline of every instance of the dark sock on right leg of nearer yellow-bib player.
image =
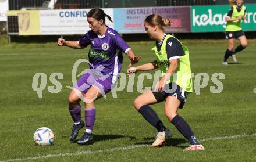
POLYGON ((172 124, 175 125, 175 127, 178 129, 178 131, 187 139, 189 140, 191 145, 198 145, 199 142, 195 138, 195 135, 191 128, 189 127, 189 124, 180 117, 179 115, 176 115, 173 120, 172 124))

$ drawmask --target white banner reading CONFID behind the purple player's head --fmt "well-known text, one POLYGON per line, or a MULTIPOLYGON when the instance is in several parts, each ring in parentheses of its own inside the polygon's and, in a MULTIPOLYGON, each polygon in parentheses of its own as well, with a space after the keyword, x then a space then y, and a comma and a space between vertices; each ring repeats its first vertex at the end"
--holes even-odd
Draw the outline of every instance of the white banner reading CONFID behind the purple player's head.
MULTIPOLYGON (((1 1, 1 0, 0 0, 1 1)), ((91 9, 40 10, 41 35, 85 34, 90 30, 87 13, 91 9)), ((104 9, 113 20, 113 9, 104 9)), ((113 28, 113 23, 106 19, 106 25, 113 28)), ((114 21, 114 20, 113 20, 114 21)))

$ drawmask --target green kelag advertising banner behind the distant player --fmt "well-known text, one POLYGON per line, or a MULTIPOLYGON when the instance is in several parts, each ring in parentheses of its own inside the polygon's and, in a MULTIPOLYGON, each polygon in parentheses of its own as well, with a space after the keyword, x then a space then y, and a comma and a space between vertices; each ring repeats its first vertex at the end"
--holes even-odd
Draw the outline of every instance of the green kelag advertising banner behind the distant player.
MULTIPOLYGON (((245 5, 246 20, 243 21, 243 31, 256 31, 256 5, 245 5)), ((191 6, 191 31, 214 32, 225 31, 229 5, 191 6)))

